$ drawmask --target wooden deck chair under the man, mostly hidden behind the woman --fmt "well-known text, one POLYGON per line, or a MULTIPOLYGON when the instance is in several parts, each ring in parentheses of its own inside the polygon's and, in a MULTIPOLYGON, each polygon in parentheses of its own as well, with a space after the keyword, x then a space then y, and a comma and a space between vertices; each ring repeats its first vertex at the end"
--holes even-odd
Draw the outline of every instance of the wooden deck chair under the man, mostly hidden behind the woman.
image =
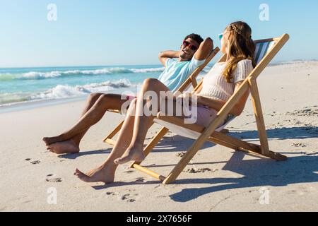
MULTIPOLYGON (((213 51, 211 52, 211 54, 208 56, 208 58, 206 58, 206 61, 204 62, 204 64, 202 64, 201 66, 199 66, 194 73, 192 73, 189 78, 187 79, 187 81, 185 81, 177 90, 177 92, 184 92, 185 90, 187 90, 187 88, 189 88, 189 85, 192 85, 193 88, 196 88, 196 86, 198 85, 196 78, 197 76, 199 76, 199 73, 201 73, 201 71, 206 67, 206 65, 208 65, 211 60, 216 57, 216 54, 218 54, 218 52, 220 51, 220 49, 218 47, 216 47, 216 49, 213 49, 213 51)), ((113 113, 120 113, 117 110, 108 110, 108 112, 113 112, 113 113)), ((105 143, 108 143, 110 145, 115 145, 116 141, 113 139, 114 136, 116 136, 117 133, 119 133, 120 129, 122 129, 122 125, 124 124, 124 120, 110 133, 106 136, 106 138, 104 139, 105 143)))

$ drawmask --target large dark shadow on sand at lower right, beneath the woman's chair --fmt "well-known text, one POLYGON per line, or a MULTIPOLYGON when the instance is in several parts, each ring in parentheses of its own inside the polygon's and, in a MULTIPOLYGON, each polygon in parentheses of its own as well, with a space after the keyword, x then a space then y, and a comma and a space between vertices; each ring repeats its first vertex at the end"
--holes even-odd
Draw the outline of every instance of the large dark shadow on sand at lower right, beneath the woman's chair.
POLYGON ((245 155, 235 152, 223 167, 223 170, 242 175, 241 178, 179 179, 176 184, 213 184, 213 186, 182 189, 170 195, 170 198, 184 203, 217 191, 318 182, 318 156, 290 157, 289 155, 287 161, 276 162, 269 159, 243 160, 245 155))

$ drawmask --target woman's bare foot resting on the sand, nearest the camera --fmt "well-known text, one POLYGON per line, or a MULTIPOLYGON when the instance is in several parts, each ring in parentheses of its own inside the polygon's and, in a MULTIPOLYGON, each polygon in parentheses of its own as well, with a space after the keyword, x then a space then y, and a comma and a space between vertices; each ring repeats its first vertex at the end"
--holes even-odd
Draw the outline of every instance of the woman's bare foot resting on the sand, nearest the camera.
POLYGON ((111 184, 114 182, 114 170, 107 167, 98 167, 86 174, 76 169, 74 175, 86 183, 104 182, 105 184, 111 184))

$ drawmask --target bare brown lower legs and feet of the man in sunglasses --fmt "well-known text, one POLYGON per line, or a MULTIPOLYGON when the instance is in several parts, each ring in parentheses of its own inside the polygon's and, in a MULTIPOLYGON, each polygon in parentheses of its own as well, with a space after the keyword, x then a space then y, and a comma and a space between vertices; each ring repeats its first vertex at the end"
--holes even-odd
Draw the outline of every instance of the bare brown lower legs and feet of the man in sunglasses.
POLYGON ((49 150, 54 153, 78 153, 79 143, 91 126, 98 123, 108 109, 120 110, 126 100, 121 95, 91 95, 83 117, 69 131, 52 138, 43 138, 49 150), (97 99, 97 100, 96 100, 97 99))

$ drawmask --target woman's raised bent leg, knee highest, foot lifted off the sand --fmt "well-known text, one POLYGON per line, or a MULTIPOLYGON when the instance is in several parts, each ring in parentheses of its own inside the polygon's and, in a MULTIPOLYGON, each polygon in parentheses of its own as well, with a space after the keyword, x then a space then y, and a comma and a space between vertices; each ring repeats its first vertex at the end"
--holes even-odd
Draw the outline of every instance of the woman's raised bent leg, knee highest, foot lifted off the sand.
MULTIPOLYGON (((143 83, 143 88, 141 93, 138 97, 138 101, 136 104, 136 119, 134 124, 134 134, 132 136, 131 144, 129 148, 126 150, 124 155, 117 160, 115 160, 116 164, 124 164, 129 161, 138 161, 142 162, 144 160, 143 154, 143 144, 147 135, 147 131, 149 126, 153 122, 155 115, 153 116, 146 116, 143 112, 145 105, 147 104, 148 100, 143 100, 145 94, 148 92, 154 92, 158 97, 158 112, 160 111, 160 92, 171 92, 163 83, 156 79, 147 79, 143 83)), ((176 109, 176 104, 173 104, 174 111, 176 109)), ((167 109, 167 108, 166 108, 167 109)), ((154 113, 158 113, 154 112, 154 113)), ((174 112, 175 113, 175 112, 174 112)))

